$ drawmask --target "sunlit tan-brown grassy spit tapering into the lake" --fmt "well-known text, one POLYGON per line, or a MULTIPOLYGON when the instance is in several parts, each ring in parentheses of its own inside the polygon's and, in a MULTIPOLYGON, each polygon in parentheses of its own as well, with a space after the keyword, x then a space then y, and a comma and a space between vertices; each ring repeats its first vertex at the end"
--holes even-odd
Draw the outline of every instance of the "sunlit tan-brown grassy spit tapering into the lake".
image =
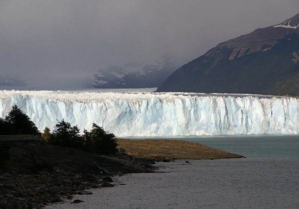
POLYGON ((124 148, 127 154, 136 157, 156 159, 219 159, 243 157, 220 149, 183 140, 117 139, 117 143, 118 148, 124 148))

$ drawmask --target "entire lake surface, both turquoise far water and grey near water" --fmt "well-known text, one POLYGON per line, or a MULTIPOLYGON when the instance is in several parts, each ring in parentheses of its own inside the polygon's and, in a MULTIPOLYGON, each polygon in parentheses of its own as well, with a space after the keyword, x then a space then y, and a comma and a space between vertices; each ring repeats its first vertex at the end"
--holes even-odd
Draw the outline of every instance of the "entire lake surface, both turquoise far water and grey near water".
POLYGON ((157 163, 157 173, 115 177, 116 187, 75 197, 84 203, 70 204, 67 200, 47 208, 299 208, 298 135, 200 136, 184 140, 247 158, 157 163))

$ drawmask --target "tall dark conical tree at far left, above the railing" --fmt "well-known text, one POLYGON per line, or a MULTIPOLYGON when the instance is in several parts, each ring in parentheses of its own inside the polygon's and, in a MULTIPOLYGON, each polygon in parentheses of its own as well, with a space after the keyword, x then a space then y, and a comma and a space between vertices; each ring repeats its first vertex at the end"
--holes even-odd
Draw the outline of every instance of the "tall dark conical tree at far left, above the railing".
POLYGON ((11 107, 8 115, 5 116, 5 121, 11 124, 13 134, 40 135, 34 122, 16 104, 11 107))

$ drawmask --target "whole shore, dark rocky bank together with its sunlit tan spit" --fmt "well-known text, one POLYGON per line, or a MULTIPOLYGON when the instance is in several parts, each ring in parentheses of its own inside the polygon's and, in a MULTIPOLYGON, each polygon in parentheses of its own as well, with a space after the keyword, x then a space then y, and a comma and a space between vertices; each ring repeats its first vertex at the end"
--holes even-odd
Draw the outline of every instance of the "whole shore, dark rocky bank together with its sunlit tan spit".
MULTIPOLYGON (((90 195, 90 188, 114 187, 112 176, 154 171, 154 161, 241 158, 197 143, 176 140, 118 139, 118 156, 100 156, 46 143, 17 143, 0 169, 0 209, 43 208, 90 195), (129 155, 127 155, 129 154, 129 155)), ((72 200, 79 203, 80 200, 72 200)))

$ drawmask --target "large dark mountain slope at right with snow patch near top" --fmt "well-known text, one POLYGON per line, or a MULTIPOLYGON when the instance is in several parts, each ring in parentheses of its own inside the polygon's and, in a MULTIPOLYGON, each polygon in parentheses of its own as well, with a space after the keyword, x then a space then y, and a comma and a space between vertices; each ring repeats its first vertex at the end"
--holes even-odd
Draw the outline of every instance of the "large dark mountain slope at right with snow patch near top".
POLYGON ((299 95, 299 14, 218 44, 157 92, 299 95))

